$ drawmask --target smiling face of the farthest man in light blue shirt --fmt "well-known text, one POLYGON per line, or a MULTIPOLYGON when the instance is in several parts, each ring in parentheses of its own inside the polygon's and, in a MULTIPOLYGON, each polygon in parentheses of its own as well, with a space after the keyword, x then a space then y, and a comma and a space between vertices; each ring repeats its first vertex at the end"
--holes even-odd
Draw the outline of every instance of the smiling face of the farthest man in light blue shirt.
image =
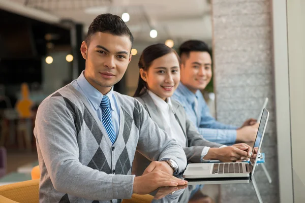
POLYGON ((181 83, 194 93, 198 89, 204 89, 212 77, 212 60, 209 53, 192 51, 189 57, 182 54, 181 62, 181 83))

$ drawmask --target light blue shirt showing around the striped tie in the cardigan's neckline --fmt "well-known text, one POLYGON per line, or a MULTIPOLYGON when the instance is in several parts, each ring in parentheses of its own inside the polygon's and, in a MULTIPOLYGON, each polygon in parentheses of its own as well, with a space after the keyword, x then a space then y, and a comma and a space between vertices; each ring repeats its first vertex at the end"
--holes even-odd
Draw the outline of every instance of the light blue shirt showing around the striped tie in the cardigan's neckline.
MULTIPOLYGON (((100 105, 104 95, 86 80, 84 72, 85 71, 82 71, 80 76, 71 82, 71 85, 88 99, 93 111, 96 112, 96 115, 102 122, 102 109, 100 105)), ((117 138, 119 130, 119 107, 113 94, 113 86, 110 92, 108 92, 106 95, 110 100, 112 123, 115 131, 115 136, 117 138)))

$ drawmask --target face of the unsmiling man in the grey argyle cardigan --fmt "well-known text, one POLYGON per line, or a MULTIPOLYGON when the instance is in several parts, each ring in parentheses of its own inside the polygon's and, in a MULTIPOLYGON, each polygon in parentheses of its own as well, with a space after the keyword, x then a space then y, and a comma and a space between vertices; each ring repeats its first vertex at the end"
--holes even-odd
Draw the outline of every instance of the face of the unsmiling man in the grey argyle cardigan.
POLYGON ((86 59, 85 78, 102 94, 124 76, 131 60, 131 41, 128 36, 114 36, 96 32, 89 45, 81 45, 81 53, 86 59))

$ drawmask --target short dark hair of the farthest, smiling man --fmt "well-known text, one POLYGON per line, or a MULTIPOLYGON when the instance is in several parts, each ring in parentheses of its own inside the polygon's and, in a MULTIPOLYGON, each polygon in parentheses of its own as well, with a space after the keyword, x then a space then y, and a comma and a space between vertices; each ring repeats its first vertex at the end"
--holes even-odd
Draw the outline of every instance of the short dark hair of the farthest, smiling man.
POLYGON ((210 49, 205 42, 199 40, 189 40, 180 45, 179 56, 181 57, 182 54, 185 54, 187 57, 189 57, 191 51, 202 51, 211 55, 210 49))

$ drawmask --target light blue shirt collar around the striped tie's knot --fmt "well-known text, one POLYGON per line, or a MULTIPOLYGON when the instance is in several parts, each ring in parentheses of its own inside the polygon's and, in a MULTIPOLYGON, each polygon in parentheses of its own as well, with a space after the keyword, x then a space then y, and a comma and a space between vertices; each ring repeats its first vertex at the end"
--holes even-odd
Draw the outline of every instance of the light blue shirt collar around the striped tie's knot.
MULTIPOLYGON (((92 103, 95 110, 98 110, 100 108, 104 95, 87 81, 87 79, 84 76, 84 73, 85 73, 85 71, 82 71, 80 76, 77 78, 77 84, 79 85, 81 90, 84 92, 85 96, 89 99, 90 103, 92 103)), ((113 86, 111 87, 111 90, 106 95, 109 97, 110 108, 111 108, 111 110, 113 110, 113 108, 111 106, 112 95, 113 95, 113 86)))

